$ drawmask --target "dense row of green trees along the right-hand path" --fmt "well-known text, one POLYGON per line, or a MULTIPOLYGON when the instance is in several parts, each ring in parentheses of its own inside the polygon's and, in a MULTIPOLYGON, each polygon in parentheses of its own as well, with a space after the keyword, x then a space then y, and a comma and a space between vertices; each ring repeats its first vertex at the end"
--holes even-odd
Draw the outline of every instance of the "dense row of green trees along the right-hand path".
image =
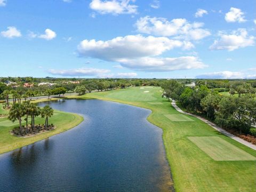
POLYGON ((256 137, 256 99, 255 89, 251 85, 244 83, 236 88, 230 87, 230 90, 243 89, 243 93, 247 93, 237 98, 220 95, 205 84, 188 87, 170 80, 165 81, 162 88, 163 96, 177 101, 190 113, 204 116, 227 130, 256 137))

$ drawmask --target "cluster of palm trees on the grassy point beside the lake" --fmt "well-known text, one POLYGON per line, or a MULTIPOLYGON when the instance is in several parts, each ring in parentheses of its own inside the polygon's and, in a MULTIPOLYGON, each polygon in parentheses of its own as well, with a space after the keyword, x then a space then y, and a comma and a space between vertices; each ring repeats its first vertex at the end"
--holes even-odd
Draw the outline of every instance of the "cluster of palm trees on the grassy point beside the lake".
POLYGON ((12 108, 9 111, 8 118, 14 122, 19 121, 19 131, 20 135, 22 133, 22 117, 25 117, 26 121, 26 134, 28 134, 28 117, 31 117, 31 129, 35 129, 35 117, 41 115, 45 118, 44 129, 46 130, 49 126, 48 118, 53 115, 53 109, 50 106, 44 106, 39 108, 35 103, 30 103, 30 101, 24 101, 22 103, 13 103, 12 108))

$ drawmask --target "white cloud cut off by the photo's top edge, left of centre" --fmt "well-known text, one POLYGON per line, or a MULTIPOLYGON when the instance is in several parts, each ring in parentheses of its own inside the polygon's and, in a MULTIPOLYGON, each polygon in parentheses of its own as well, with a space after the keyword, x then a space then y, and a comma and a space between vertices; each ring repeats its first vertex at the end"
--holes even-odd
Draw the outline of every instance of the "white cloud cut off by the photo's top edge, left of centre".
MULTIPOLYGON (((131 1, 135 2, 135 0, 131 1)), ((92 0, 90 8, 101 14, 134 14, 137 13, 137 5, 131 5, 130 0, 92 0)))

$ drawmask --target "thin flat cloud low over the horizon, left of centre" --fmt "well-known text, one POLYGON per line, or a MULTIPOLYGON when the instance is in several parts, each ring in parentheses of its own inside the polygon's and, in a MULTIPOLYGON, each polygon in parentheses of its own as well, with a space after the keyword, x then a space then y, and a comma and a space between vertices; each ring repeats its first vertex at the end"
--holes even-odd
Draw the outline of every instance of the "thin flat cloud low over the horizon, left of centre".
POLYGON ((95 68, 78 68, 78 69, 49 69, 48 72, 52 75, 61 76, 100 76, 109 73, 108 69, 95 69, 95 68))

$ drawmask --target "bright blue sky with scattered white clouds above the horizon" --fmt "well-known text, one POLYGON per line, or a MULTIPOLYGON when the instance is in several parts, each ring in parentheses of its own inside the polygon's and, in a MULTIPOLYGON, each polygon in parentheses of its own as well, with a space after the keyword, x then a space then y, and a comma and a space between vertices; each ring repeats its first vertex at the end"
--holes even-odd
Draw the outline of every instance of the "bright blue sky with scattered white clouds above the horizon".
POLYGON ((0 0, 0 76, 256 78, 256 2, 0 0))

